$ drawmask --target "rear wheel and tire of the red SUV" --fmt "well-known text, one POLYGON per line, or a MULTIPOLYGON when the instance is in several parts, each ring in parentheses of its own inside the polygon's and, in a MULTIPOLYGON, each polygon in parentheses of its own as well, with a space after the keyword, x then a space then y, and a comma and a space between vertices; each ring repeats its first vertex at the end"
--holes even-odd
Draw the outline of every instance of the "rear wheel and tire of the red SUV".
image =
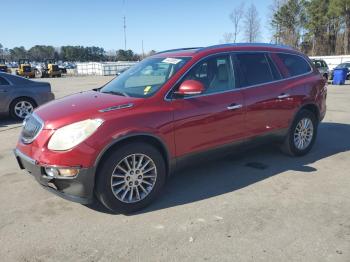
POLYGON ((281 146, 282 151, 290 156, 306 155, 312 149, 315 143, 316 136, 317 136, 317 128, 318 128, 318 120, 315 114, 309 110, 301 110, 296 115, 292 123, 292 126, 289 129, 288 134, 281 146), (307 126, 308 128, 305 128, 305 126, 307 126), (306 129, 306 130, 298 132, 300 128, 306 129), (298 136, 298 133, 301 134, 301 136, 305 138, 305 140, 300 139, 300 136, 298 136), (312 134, 311 138, 310 138, 310 134, 312 134), (305 141, 305 143, 302 144, 302 141, 305 141))

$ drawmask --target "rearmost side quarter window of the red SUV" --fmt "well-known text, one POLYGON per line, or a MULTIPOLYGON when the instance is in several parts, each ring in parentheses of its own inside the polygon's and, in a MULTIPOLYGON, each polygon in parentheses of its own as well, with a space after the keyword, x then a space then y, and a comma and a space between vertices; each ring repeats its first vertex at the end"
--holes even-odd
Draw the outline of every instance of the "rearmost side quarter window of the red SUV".
POLYGON ((289 77, 303 75, 311 71, 309 63, 301 56, 278 53, 283 65, 288 69, 289 77))

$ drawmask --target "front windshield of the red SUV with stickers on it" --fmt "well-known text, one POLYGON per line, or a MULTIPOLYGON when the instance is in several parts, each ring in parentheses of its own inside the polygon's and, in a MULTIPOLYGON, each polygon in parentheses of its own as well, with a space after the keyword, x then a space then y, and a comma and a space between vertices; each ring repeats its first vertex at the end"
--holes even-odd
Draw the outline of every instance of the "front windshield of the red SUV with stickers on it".
POLYGON ((107 83, 100 92, 131 97, 152 96, 189 60, 189 57, 145 59, 107 83))

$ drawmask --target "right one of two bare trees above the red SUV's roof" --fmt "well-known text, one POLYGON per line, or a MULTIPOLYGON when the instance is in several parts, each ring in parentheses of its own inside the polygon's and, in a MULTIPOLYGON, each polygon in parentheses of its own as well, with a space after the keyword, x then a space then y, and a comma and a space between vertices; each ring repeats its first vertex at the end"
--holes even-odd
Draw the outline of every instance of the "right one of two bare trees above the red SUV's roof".
POLYGON ((244 16, 244 28, 246 41, 256 42, 260 35, 260 18, 254 4, 250 5, 244 16))

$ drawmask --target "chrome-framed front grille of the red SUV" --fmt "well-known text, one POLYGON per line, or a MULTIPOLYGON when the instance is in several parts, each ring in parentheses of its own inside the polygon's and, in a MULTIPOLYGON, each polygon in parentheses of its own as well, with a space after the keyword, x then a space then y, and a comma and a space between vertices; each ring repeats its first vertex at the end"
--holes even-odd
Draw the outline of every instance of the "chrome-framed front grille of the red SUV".
POLYGON ((21 133, 22 142, 25 144, 32 143, 43 127, 44 124, 38 116, 35 114, 29 115, 23 122, 21 133))

